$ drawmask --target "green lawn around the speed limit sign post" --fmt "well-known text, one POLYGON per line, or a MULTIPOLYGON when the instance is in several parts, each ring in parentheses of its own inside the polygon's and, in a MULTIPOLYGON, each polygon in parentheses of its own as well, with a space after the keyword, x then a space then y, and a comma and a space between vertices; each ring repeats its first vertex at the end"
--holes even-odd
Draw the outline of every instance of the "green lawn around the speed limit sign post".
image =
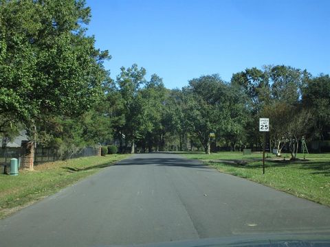
MULTIPOLYGON (((243 155, 240 152, 219 152, 207 155, 202 152, 192 152, 181 155, 199 159, 220 172, 247 178, 294 196, 330 206, 330 154, 306 154, 306 161, 303 161, 302 154, 298 154, 298 158, 301 159, 294 162, 288 161, 289 156, 285 158, 285 162, 283 158, 276 161, 273 160, 275 158, 273 154, 268 154, 264 175, 262 153, 243 155), (243 160, 247 164, 228 164, 221 160, 243 160)), ((286 157, 286 154, 283 156, 286 157)))

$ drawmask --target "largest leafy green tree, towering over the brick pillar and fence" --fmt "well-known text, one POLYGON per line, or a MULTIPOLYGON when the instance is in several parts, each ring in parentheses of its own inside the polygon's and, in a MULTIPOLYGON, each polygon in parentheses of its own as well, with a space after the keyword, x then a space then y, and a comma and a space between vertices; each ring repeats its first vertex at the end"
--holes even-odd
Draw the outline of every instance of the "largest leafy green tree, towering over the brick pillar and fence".
POLYGON ((0 113, 38 142, 42 122, 81 115, 99 101, 110 57, 85 35, 83 0, 2 1, 0 16, 0 113))

